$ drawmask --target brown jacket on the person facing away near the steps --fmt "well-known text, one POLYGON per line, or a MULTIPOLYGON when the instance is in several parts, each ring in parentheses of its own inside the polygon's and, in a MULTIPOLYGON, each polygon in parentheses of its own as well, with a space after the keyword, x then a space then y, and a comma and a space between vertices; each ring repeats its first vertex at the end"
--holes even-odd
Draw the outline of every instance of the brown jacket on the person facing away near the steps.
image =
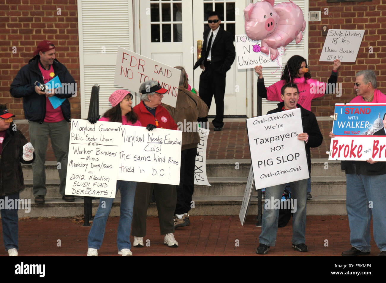
POLYGON ((171 117, 182 130, 182 148, 181 150, 197 147, 200 142, 200 136, 197 132, 197 118, 208 115, 208 106, 195 93, 179 86, 176 107, 168 104, 162 104, 169 111, 171 117), (185 120, 185 122, 184 122, 185 120))

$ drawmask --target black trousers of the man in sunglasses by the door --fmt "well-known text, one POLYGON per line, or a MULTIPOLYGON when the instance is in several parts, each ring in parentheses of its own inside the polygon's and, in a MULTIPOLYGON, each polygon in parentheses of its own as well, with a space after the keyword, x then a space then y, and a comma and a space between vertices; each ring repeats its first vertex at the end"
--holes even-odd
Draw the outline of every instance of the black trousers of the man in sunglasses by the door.
MULTIPOLYGON (((224 123, 224 95, 225 95, 225 77, 227 73, 215 71, 212 64, 205 63, 205 71, 200 75, 200 86, 198 92, 201 99, 207 103, 208 108, 212 103, 212 97, 215 96, 216 117, 212 121, 213 126, 222 128, 224 123)), ((198 118, 198 122, 208 122, 208 116, 198 118)))

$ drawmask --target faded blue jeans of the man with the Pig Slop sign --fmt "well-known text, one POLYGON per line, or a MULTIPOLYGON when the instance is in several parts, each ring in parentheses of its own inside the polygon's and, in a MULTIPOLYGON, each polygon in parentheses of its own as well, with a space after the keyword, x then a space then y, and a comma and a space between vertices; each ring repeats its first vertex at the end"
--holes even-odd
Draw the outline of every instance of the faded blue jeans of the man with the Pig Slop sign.
MULTIPOLYGON (((259 236, 259 243, 270 247, 275 246, 276 233, 278 232, 279 209, 266 209, 267 200, 280 200, 286 183, 281 185, 266 188, 266 203, 264 205, 264 212, 261 223, 261 234, 259 236)), ((304 244, 306 242, 306 205, 307 205, 307 179, 294 181, 289 183, 291 186, 291 198, 296 199, 296 212, 293 214, 292 220, 292 243, 304 244)))

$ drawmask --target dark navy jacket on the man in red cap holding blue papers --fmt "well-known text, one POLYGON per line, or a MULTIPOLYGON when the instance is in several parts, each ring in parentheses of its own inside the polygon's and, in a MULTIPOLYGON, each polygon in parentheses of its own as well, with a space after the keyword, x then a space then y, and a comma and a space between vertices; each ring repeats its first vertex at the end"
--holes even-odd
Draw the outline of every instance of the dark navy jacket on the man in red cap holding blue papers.
MULTIPOLYGON (((30 59, 28 64, 19 70, 14 81, 12 81, 10 93, 13 97, 23 98, 25 119, 42 124, 44 117, 46 117, 46 96, 39 95, 35 92, 35 81, 43 83, 43 76, 39 70, 38 64, 39 54, 30 59)), ((62 84, 75 83, 75 80, 70 75, 67 68, 63 64, 59 63, 58 60, 55 59, 52 66, 54 68, 55 76, 59 76, 62 84)), ((68 93, 56 93, 55 96, 59 98, 69 98, 75 93, 76 90, 71 92, 70 88, 68 93)), ((71 119, 71 110, 68 99, 63 101, 61 108, 64 119, 69 122, 71 119)))

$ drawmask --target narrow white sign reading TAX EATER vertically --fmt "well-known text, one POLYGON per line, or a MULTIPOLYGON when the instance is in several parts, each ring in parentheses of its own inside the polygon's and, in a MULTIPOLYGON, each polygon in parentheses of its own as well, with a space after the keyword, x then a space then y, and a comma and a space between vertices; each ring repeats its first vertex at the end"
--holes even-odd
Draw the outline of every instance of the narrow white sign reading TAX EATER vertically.
POLYGON ((212 186, 208 182, 207 177, 207 143, 209 136, 209 129, 198 128, 198 134, 200 135, 200 142, 197 146, 196 163, 194 166, 194 184, 203 186, 212 186))

